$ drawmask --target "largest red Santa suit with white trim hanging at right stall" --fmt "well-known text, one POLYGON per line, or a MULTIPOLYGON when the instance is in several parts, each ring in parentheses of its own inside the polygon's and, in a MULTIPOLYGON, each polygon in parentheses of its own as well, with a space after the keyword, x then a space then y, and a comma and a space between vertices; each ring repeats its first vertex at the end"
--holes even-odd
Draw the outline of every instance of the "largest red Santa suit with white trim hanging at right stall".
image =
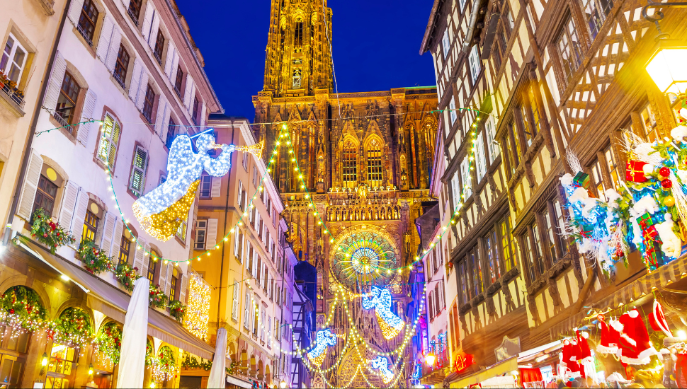
POLYGON ((651 361, 652 355, 659 353, 649 340, 649 332, 637 309, 623 313, 612 325, 620 332, 618 354, 624 364, 645 365, 651 361))

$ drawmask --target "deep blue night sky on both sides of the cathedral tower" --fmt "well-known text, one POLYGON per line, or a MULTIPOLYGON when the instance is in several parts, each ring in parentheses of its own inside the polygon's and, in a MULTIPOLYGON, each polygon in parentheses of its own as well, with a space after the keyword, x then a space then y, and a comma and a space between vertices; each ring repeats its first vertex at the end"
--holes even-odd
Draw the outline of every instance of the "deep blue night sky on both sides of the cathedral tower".
MULTIPOLYGON (((254 118, 262 89, 270 0, 176 0, 227 115, 254 118)), ((434 85, 420 44, 431 0, 329 0, 339 92, 434 85)))

